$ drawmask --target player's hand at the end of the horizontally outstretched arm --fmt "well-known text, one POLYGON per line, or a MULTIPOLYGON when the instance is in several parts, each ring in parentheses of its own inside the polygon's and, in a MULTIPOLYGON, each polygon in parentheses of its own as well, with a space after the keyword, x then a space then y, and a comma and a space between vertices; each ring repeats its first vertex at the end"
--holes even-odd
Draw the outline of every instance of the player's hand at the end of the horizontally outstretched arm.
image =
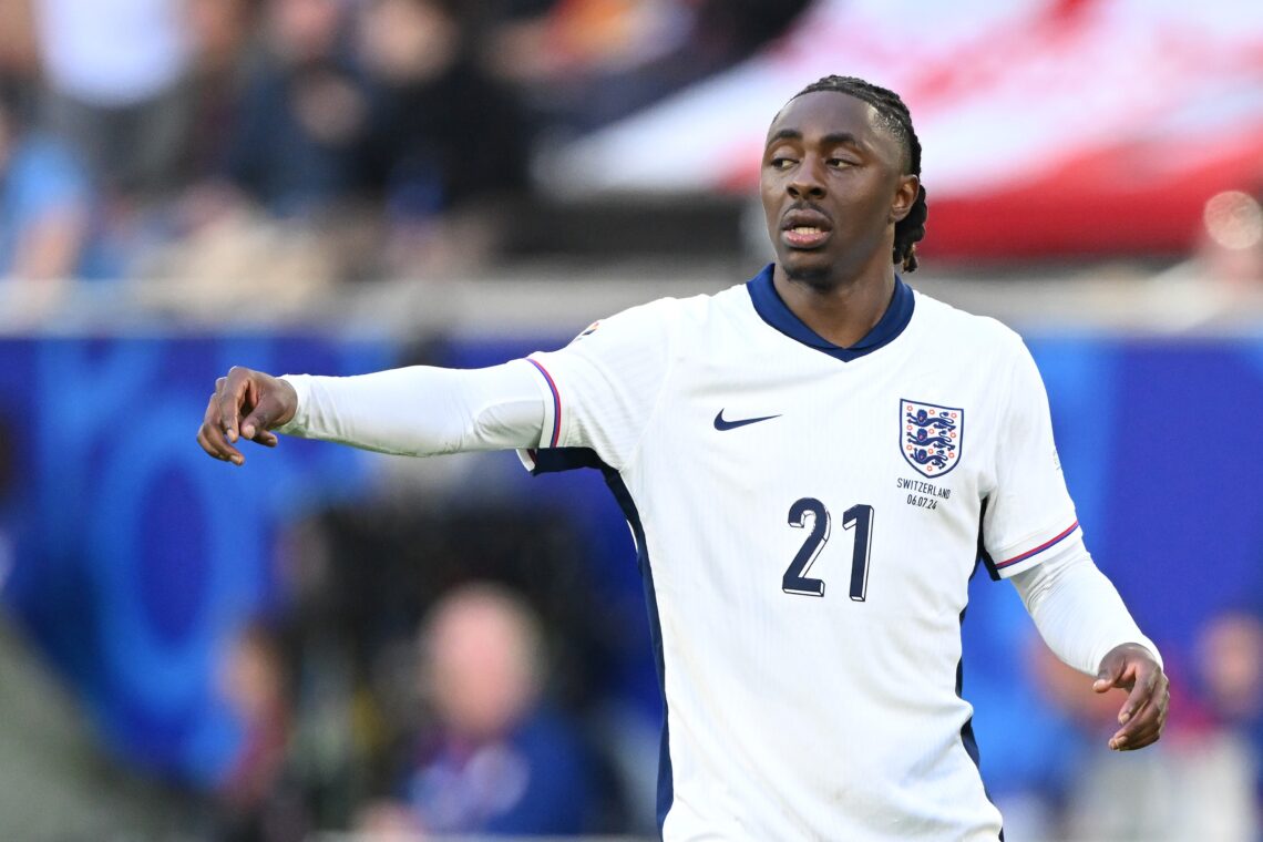
POLYGON ((232 366, 226 377, 215 381, 215 394, 197 430, 197 443, 217 460, 244 465, 245 457, 232 447, 249 439, 265 447, 277 446, 270 430, 298 412, 298 393, 280 377, 232 366))

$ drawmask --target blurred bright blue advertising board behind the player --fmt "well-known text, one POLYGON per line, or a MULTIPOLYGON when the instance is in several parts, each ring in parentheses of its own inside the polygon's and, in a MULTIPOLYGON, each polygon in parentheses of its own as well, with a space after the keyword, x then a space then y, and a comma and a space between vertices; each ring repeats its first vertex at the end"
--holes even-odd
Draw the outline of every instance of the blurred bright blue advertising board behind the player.
MULTIPOLYGON (((441 356, 488 365, 560 343, 464 341, 441 356)), ((1260 607, 1253 424, 1263 418, 1263 338, 1036 336, 1031 347, 1089 547, 1168 667, 1185 669, 1206 617, 1260 607)), ((386 341, 316 335, 0 341, 0 436, 13 463, 0 489, 0 533, 13 548, 0 605, 120 756, 195 785, 231 766, 240 735, 212 692, 217 644, 283 610, 280 526, 371 487, 370 462, 349 448, 285 441, 266 458, 248 451, 244 470, 206 458, 193 439, 215 379, 231 365, 354 374, 399 356, 386 341)), ((587 473, 523 473, 508 492, 570 506, 602 581, 639 600, 626 528, 587 473)), ((989 735, 1019 727, 1005 708, 1038 707, 1014 683, 1014 636, 1034 632, 1010 587, 979 576, 973 590, 965 691, 984 697, 985 769, 989 735)), ((643 640, 643 658, 630 658, 611 691, 653 704, 647 630, 643 640)))

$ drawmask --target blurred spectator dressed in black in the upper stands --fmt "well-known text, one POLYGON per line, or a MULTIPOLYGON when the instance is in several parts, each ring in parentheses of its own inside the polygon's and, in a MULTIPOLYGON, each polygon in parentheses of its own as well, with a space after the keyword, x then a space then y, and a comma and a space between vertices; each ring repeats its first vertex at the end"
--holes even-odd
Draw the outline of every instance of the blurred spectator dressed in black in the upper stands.
POLYGON ((389 274, 479 263, 504 222, 491 199, 527 186, 522 107, 474 61, 458 9, 451 0, 361 6, 361 52, 379 86, 364 174, 384 201, 389 274))

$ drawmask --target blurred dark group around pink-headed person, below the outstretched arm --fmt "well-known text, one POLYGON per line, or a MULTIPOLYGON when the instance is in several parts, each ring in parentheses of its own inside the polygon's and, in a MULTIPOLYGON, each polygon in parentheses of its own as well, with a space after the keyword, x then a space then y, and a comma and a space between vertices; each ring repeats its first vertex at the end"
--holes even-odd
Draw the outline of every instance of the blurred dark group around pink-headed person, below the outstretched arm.
POLYGON ((224 643, 244 742, 196 826, 242 842, 652 833, 653 764, 618 750, 609 707, 618 650, 648 640, 602 601, 573 526, 409 502, 326 511, 278 549, 290 597, 224 643))

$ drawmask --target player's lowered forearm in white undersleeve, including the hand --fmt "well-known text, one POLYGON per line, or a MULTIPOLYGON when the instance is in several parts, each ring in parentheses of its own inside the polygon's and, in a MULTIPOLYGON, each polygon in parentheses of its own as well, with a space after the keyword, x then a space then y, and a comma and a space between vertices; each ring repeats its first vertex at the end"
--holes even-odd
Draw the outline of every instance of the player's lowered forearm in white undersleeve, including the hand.
POLYGON ((1082 542, 1012 581, 1039 635, 1061 660, 1095 675, 1098 693, 1128 691, 1109 747, 1130 751, 1156 742, 1171 703, 1162 660, 1082 542))

